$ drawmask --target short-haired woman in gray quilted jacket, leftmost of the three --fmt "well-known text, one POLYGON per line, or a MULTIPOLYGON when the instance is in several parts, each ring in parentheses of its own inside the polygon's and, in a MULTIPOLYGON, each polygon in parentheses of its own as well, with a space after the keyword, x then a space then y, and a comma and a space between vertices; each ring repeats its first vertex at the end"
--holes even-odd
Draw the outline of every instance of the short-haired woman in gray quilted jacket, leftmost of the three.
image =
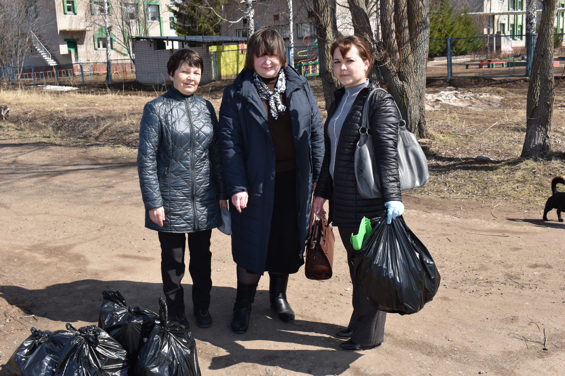
POLYGON ((171 55, 167 71, 172 85, 145 105, 137 154, 145 227, 159 232, 169 319, 186 328, 180 283, 186 238, 194 316, 198 326, 208 328, 210 237, 222 223, 220 206, 227 208, 216 113, 209 101, 194 95, 203 68, 202 56, 192 50, 171 55))

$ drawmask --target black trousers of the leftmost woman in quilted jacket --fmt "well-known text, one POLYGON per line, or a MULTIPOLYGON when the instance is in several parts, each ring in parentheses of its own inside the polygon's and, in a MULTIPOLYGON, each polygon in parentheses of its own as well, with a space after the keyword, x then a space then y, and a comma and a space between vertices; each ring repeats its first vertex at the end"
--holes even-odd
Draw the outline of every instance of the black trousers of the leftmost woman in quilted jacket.
POLYGON ((161 244, 161 276, 163 293, 167 299, 168 313, 171 316, 184 313, 184 289, 180 284, 184 277, 184 252, 186 237, 190 262, 188 271, 192 278, 192 303, 194 310, 205 310, 210 307, 210 290, 212 289, 210 237, 212 230, 191 232, 160 232, 161 244))

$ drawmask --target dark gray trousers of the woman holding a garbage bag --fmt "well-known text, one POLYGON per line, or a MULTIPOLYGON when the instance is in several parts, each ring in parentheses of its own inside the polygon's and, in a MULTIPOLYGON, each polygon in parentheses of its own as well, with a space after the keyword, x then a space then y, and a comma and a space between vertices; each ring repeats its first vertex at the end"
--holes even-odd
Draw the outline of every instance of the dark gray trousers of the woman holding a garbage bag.
POLYGON ((347 251, 347 264, 349 264, 349 274, 353 283, 353 313, 347 328, 353 330, 351 340, 362 346, 375 346, 383 342, 385 333, 386 312, 379 311, 369 303, 369 300, 361 291, 355 278, 351 254, 354 252, 350 237, 352 233, 357 233, 359 227, 338 227, 341 241, 347 251))

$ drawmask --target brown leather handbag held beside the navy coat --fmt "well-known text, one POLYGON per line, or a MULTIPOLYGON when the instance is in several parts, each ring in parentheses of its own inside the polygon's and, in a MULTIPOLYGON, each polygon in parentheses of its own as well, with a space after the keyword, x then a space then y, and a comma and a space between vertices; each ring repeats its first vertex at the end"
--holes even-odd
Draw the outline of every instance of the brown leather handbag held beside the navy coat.
POLYGON ((306 241, 306 260, 304 272, 310 280, 328 280, 332 277, 333 244, 332 225, 325 219, 318 219, 314 207, 310 214, 310 231, 306 241))

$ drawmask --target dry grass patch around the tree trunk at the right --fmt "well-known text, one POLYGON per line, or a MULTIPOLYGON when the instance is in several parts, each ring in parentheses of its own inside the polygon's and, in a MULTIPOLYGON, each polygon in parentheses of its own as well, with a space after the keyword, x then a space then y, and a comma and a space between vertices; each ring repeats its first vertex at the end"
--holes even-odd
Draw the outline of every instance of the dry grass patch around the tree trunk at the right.
MULTIPOLYGON (((551 195, 553 176, 565 172, 565 111, 556 106, 554 112, 552 149, 555 152, 537 160, 523 160, 519 156, 526 126, 525 107, 521 105, 525 92, 516 94, 493 87, 473 91, 508 97, 505 104, 509 108, 428 112, 431 179, 429 184, 411 193, 542 205, 551 195), (477 160, 481 155, 491 161, 477 160)), ((563 95, 558 93, 557 99, 562 100, 563 95)))

